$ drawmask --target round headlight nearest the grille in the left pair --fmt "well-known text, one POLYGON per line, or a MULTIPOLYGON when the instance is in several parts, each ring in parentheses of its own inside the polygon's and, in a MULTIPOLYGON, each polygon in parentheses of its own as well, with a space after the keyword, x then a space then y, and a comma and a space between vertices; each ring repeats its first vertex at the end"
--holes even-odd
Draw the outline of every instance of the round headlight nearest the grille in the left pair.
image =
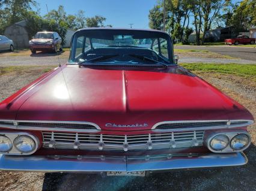
POLYGON ((27 135, 16 137, 13 144, 21 153, 30 153, 35 149, 35 141, 27 135))

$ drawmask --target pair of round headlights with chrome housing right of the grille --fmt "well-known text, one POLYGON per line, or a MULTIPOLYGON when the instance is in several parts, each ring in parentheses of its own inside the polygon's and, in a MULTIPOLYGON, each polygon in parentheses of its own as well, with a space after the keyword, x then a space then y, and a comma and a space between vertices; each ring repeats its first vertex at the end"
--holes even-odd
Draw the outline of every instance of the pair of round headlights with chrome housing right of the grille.
POLYGON ((251 143, 247 132, 224 132, 214 134, 207 140, 207 147, 215 153, 231 153, 245 150, 251 143))

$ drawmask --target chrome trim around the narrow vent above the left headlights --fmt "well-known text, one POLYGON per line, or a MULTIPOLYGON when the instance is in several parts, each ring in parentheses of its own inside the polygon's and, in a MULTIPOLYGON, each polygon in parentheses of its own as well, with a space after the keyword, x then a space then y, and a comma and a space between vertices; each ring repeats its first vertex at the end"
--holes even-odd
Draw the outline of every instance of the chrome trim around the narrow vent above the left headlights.
POLYGON ((66 132, 100 132, 100 126, 96 123, 91 122, 78 122, 78 121, 41 121, 41 120, 0 120, 0 122, 13 122, 16 125, 0 125, 1 128, 8 129, 19 129, 19 130, 36 130, 36 131, 66 131, 66 132), (27 123, 67 123, 67 124, 82 124, 82 125, 92 125, 96 129, 66 129, 66 128, 40 128, 37 126, 22 126, 19 125, 19 122, 27 123))

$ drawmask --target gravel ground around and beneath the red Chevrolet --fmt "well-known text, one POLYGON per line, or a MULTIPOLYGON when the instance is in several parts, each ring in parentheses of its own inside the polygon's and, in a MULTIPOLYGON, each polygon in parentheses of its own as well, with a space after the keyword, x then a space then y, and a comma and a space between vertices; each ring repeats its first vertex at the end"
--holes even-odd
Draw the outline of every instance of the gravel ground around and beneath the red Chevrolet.
MULTIPOLYGON (((0 101, 37 78, 42 71, 31 68, 30 72, 0 75, 0 101)), ((249 87, 250 81, 231 75, 199 75, 245 105, 256 118, 256 88, 249 87)), ((249 159, 245 166, 172 171, 150 177, 0 172, 0 190, 256 190, 255 127, 249 128, 252 144, 245 152, 249 159)))

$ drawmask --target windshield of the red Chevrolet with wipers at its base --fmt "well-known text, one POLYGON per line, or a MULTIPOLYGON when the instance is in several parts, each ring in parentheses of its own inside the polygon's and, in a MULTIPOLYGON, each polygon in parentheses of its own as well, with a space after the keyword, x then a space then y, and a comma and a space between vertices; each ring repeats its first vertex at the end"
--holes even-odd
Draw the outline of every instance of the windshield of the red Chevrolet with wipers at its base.
POLYGON ((76 32, 69 63, 172 64, 169 35, 155 31, 93 29, 76 32))

